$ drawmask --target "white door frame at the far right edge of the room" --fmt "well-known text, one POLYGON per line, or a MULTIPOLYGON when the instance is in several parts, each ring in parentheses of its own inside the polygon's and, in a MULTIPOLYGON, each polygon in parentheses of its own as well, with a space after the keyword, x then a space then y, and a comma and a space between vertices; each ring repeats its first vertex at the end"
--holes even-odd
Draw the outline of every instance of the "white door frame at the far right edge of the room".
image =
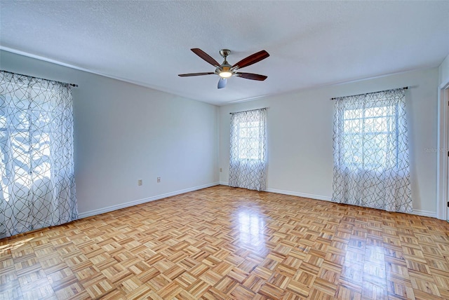
POLYGON ((436 217, 448 217, 448 168, 449 168, 449 82, 438 88, 438 141, 436 157, 436 217))

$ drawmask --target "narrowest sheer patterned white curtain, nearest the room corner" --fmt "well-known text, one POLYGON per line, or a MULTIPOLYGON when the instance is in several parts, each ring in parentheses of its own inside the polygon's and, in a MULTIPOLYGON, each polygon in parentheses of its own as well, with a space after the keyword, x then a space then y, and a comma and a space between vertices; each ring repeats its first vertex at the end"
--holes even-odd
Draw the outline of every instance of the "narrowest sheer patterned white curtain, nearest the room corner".
POLYGON ((267 109, 231 116, 229 186, 264 191, 267 170, 267 109))

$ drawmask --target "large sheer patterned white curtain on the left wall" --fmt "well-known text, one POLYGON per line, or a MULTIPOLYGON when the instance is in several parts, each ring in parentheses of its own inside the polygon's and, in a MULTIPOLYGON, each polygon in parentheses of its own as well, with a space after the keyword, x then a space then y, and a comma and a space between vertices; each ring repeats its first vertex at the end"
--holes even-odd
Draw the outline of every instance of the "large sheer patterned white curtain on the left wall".
POLYGON ((0 238, 78 218, 72 91, 0 71, 0 238))

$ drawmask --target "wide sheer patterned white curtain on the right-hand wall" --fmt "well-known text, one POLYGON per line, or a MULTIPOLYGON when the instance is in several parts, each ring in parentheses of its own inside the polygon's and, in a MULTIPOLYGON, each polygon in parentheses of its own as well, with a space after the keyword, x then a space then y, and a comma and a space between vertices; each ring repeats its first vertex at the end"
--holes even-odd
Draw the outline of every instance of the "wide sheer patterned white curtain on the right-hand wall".
POLYGON ((412 212, 403 88, 337 98, 333 151, 333 201, 412 212))

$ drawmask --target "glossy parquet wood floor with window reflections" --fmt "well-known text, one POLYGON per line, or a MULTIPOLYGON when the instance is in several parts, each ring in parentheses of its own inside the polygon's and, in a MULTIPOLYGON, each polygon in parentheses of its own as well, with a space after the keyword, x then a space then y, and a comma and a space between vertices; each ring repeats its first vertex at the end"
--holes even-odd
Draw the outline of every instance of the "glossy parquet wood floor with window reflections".
POLYGON ((0 299, 449 299, 448 232, 213 186, 0 240, 0 299))

